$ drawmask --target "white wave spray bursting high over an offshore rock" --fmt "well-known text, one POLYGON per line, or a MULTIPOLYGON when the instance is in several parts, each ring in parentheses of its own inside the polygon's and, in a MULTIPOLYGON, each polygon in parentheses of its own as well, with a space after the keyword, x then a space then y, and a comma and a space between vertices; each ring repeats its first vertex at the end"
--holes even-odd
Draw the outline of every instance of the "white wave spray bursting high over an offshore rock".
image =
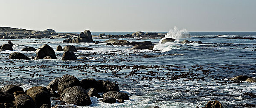
POLYGON ((186 29, 179 30, 176 26, 174 26, 173 29, 170 29, 170 31, 165 35, 164 38, 162 38, 158 44, 154 46, 154 50, 161 50, 162 52, 170 51, 171 49, 178 49, 176 44, 179 42, 179 39, 190 37, 189 32, 186 29), (173 38, 176 39, 174 43, 167 42, 165 44, 161 44, 163 39, 166 38, 173 38))

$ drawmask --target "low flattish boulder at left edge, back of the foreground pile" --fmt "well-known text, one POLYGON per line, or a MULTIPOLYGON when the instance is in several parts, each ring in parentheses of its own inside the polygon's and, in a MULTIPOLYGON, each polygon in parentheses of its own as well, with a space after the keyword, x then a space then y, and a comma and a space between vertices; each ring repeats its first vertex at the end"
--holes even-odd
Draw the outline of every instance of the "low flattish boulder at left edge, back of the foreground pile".
POLYGON ((14 92, 17 92, 17 91, 24 92, 24 90, 17 85, 5 85, 4 87, 1 88, 1 91, 7 92, 9 94, 13 94, 14 92))

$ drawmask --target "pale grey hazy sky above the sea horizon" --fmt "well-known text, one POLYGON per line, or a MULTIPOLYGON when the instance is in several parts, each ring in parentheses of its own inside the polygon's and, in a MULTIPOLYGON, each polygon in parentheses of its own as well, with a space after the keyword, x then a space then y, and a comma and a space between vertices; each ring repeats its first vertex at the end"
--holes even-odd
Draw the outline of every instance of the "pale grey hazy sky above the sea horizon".
POLYGON ((0 27, 256 31, 256 0, 0 0, 0 27))

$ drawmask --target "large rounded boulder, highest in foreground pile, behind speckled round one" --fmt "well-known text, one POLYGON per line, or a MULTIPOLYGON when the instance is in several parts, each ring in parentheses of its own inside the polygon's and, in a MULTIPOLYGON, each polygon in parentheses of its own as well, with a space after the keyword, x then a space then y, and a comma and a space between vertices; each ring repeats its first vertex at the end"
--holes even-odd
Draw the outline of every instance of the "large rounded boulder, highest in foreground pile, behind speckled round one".
POLYGON ((63 75, 58 83, 58 93, 61 94, 64 89, 73 86, 81 86, 80 81, 74 76, 63 75))

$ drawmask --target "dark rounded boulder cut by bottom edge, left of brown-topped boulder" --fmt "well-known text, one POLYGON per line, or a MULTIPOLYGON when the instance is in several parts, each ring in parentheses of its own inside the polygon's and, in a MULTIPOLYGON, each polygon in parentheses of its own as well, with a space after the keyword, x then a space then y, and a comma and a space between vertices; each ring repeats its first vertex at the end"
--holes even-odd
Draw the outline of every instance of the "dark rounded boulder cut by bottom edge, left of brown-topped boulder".
POLYGON ((15 98, 16 108, 37 108, 34 100, 27 94, 20 94, 15 98))

